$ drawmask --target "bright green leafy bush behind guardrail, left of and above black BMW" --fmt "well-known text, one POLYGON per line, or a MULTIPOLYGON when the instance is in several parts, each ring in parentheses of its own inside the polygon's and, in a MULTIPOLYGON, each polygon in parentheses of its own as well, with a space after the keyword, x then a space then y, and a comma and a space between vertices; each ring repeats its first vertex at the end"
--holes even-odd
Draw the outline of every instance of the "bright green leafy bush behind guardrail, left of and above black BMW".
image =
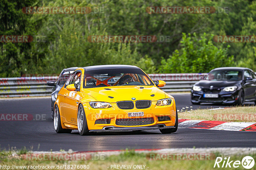
MULTIPOLYGON (((196 36, 196 33, 184 33, 181 49, 175 52, 167 60, 161 60, 162 73, 202 73, 209 72, 216 67, 233 65, 233 56, 227 57, 228 48, 219 48, 212 43, 213 35, 207 38, 206 33, 196 36)), ((229 46, 228 46, 229 47, 229 46)))

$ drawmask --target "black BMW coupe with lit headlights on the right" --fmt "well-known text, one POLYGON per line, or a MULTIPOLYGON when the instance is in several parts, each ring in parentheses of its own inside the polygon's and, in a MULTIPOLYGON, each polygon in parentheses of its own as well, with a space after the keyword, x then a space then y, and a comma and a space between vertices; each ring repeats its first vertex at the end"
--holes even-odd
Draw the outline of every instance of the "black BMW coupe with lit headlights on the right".
POLYGON ((220 67, 196 82, 191 89, 191 103, 256 104, 256 74, 244 67, 220 67))

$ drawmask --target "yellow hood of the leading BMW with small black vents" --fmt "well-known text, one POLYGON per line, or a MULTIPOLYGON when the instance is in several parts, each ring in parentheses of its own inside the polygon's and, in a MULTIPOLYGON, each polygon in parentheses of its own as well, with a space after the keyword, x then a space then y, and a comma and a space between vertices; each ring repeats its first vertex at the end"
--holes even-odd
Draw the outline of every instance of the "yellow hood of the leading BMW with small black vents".
POLYGON ((132 100, 151 100, 157 101, 165 98, 165 92, 156 86, 114 86, 83 89, 86 93, 94 97, 97 101, 116 103, 118 101, 132 100), (112 98, 113 97, 113 98, 112 98))

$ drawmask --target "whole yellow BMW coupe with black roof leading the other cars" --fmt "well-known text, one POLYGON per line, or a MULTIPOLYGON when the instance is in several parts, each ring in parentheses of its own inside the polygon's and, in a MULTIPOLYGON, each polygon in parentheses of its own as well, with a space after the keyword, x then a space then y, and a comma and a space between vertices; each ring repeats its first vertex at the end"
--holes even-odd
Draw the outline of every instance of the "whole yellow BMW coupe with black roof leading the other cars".
POLYGON ((159 129, 174 133, 178 113, 174 98, 159 89, 139 67, 100 65, 76 69, 60 89, 54 103, 57 133, 159 129))

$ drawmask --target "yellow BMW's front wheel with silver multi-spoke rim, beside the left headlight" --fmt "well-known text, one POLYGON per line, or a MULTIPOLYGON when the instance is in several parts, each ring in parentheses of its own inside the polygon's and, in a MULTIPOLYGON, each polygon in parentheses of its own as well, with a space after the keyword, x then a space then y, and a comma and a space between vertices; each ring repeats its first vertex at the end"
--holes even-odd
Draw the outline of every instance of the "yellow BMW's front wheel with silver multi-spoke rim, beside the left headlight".
POLYGON ((78 106, 78 111, 77 111, 77 128, 80 133, 80 135, 89 135, 89 129, 87 126, 86 122, 86 117, 85 117, 85 112, 84 112, 84 107, 82 104, 78 106))

